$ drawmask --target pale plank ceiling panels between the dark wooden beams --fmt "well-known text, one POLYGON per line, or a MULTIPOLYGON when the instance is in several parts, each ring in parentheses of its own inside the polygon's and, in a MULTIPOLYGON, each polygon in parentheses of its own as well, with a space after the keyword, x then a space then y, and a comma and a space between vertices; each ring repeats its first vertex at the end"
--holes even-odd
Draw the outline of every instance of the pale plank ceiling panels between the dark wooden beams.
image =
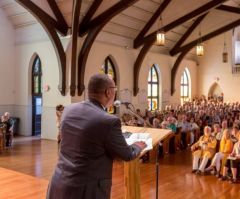
MULTIPOLYGON (((166 6, 162 13, 163 26, 168 25, 177 19, 185 16, 186 14, 196 10, 197 8, 209 3, 213 0, 172 0, 166 6)), ((218 0, 215 0, 218 1, 218 0)), ((43 8, 49 15, 54 17, 47 0, 32 0, 39 7, 43 8)), ((69 27, 72 26, 72 8, 73 0, 56 0, 59 9, 61 10, 67 24, 69 27)), ((83 0, 80 11, 80 21, 86 15, 87 11, 91 7, 94 0, 83 0)), ((112 5, 119 2, 119 0, 103 0, 102 4, 99 6, 93 18, 110 8, 112 5)), ((117 16, 113 17, 103 28, 102 33, 111 34, 114 37, 121 37, 126 41, 131 41, 132 46, 134 40, 151 19, 157 9, 160 7, 164 0, 139 0, 129 8, 123 10, 117 16)), ((200 25, 193 30, 191 35, 183 42, 183 44, 189 43, 194 39, 198 38, 199 31, 201 30, 202 36, 217 30, 219 27, 223 27, 228 23, 239 19, 240 0, 229 0, 225 1, 223 5, 235 7, 236 10, 228 10, 228 7, 222 7, 222 9, 214 9, 217 6, 213 6, 206 17, 201 21, 200 25)), ((1 0, 0 8, 6 13, 7 18, 11 21, 15 29, 20 29, 28 26, 37 24, 37 19, 28 12, 25 8, 19 5, 15 0, 1 0)), ((208 10, 207 10, 208 11, 208 10)), ((206 13, 203 11, 202 13, 206 13)), ((166 34, 166 46, 158 47, 161 51, 168 53, 179 41, 179 39, 184 35, 184 33, 191 27, 193 22, 198 16, 202 15, 196 14, 188 20, 183 21, 180 25, 173 27, 166 34)), ((159 16, 159 15, 158 15, 159 16)), ((157 17, 158 17, 157 16, 157 17)), ((159 27, 159 18, 156 18, 153 25, 147 30, 146 35, 151 34, 156 31, 159 27)), ((126 42, 126 44, 128 44, 126 42)), ((121 44, 119 44, 121 45, 121 44)), ((129 45, 128 47, 132 47, 129 45)), ((194 51, 193 51, 194 52, 194 51)))

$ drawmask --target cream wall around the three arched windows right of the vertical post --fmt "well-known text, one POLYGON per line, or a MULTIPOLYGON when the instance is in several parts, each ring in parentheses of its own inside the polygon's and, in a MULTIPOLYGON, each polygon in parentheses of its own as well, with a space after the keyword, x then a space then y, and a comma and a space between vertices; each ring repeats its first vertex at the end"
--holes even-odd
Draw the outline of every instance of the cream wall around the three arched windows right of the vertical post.
MULTIPOLYGON (((111 55, 116 63, 117 71, 119 71, 120 79, 118 80, 118 95, 121 98, 121 91, 129 89, 133 92, 133 66, 137 58, 139 50, 126 49, 110 44, 104 44, 95 42, 87 61, 86 72, 85 72, 85 86, 89 80, 89 77, 95 73, 98 73, 104 59, 111 55)), ((161 55, 158 53, 149 52, 143 61, 140 78, 139 78, 139 89, 142 94, 147 96, 147 76, 150 67, 153 64, 157 64, 160 69, 160 103, 164 107, 166 104, 180 104, 180 77, 185 67, 187 67, 191 74, 191 85, 192 85, 192 96, 197 93, 197 67, 195 62, 190 60, 183 60, 179 66, 176 75, 176 92, 173 96, 170 93, 170 81, 171 81, 171 68, 176 58, 170 56, 161 55), (162 94, 164 93, 164 94, 162 94)), ((136 108, 145 110, 147 108, 147 99, 144 103, 142 102, 142 96, 132 97, 132 103, 136 108)))

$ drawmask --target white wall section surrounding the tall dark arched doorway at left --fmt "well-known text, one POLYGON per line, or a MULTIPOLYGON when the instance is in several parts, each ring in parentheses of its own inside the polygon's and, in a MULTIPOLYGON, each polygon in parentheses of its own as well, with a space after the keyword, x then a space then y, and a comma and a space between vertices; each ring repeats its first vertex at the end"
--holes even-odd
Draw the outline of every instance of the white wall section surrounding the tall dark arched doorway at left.
MULTIPOLYGON (((65 42, 65 41, 63 41, 65 42)), ((65 44, 64 44, 65 45, 65 44)), ((16 116, 20 117, 20 133, 29 136, 32 133, 31 72, 35 55, 42 64, 42 85, 50 90, 43 91, 42 137, 55 139, 57 135, 55 107, 57 104, 71 103, 69 96, 61 96, 58 91, 59 69, 57 57, 50 41, 28 42, 16 45, 16 116)))

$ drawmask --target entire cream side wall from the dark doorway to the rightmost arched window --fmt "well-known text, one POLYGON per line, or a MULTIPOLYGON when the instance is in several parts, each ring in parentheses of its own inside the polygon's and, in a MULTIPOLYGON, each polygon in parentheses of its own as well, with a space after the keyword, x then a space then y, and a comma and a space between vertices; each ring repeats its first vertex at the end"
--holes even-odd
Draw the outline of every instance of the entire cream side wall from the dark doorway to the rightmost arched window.
MULTIPOLYGON (((21 31, 22 32, 22 31, 21 31)), ((19 33, 20 34, 20 33, 19 33)), ((22 34, 22 33, 21 33, 22 34)), ((20 36, 18 36, 20 38, 20 36)), ((79 39, 80 45, 82 40, 79 39)), ((62 40, 64 48, 67 49, 67 75, 69 85, 69 51, 71 50, 68 39, 62 40)), ((90 76, 99 73, 102 64, 107 56, 113 58, 113 62, 116 65, 118 71, 118 98, 121 99, 121 91, 128 89, 133 93, 133 66, 138 56, 139 50, 126 49, 112 44, 106 44, 103 42, 95 42, 86 65, 85 71, 85 86, 87 86, 90 76)), ((68 105, 72 102, 78 102, 87 98, 86 92, 81 97, 69 96, 69 86, 67 88, 67 96, 62 97, 58 92, 58 62, 55 51, 50 41, 47 40, 35 40, 17 42, 16 45, 16 101, 15 101, 15 113, 20 117, 20 129, 22 135, 31 135, 31 67, 35 55, 38 55, 42 63, 43 71, 43 85, 49 85, 50 90, 43 92, 43 109, 42 109, 42 138, 56 139, 56 116, 55 106, 57 104, 68 105)), ((140 91, 141 95, 136 97, 131 96, 131 102, 136 108, 140 108, 142 111, 147 108, 147 76, 150 67, 153 64, 159 66, 160 71, 160 105, 163 107, 166 104, 180 104, 180 76, 185 67, 187 67, 191 74, 192 79, 192 96, 196 94, 196 64, 193 61, 183 60, 179 70, 177 71, 176 79, 176 92, 173 96, 170 94, 170 74, 171 67, 174 64, 176 58, 170 56, 161 55, 159 53, 149 52, 144 59, 141 71, 140 71, 140 91), (162 94, 164 93, 164 94, 162 94), (145 97, 145 98, 144 98, 145 97), (145 101, 144 101, 145 99, 145 101)), ((86 90, 87 91, 87 90, 86 90)), ((121 110, 124 112, 125 110, 121 110)))

